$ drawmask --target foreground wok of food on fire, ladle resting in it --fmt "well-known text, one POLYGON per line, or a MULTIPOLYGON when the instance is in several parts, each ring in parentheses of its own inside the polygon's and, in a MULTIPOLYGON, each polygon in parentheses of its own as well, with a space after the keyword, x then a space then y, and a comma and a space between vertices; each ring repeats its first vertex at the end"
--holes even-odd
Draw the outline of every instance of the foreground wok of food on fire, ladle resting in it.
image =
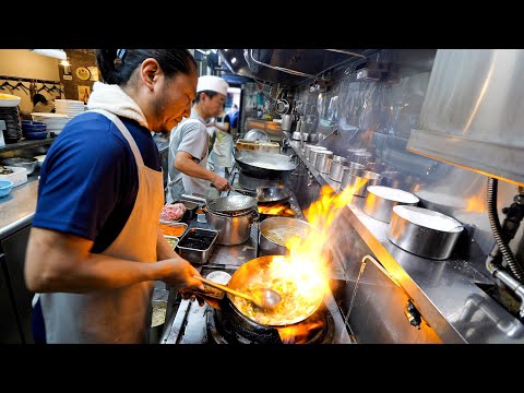
MULTIPOLYGON (((283 293, 282 288, 271 287, 275 285, 275 282, 278 281, 274 270, 271 267, 271 263, 275 258, 283 257, 264 255, 243 263, 233 274, 231 279, 227 284, 229 288, 243 293, 249 293, 249 288, 253 286, 267 286, 281 294, 282 301, 273 311, 253 308, 249 301, 227 294, 230 305, 235 311, 237 311, 251 323, 261 326, 279 327, 303 321, 317 311, 323 300, 323 296, 306 299, 298 294, 298 290, 288 290, 287 293, 283 293), (270 283, 272 284, 271 286, 269 285, 270 283), (307 302, 308 307, 301 311, 299 308, 295 307, 297 302, 307 302)), ((293 286, 293 283, 286 284, 287 288, 290 286, 293 286)))

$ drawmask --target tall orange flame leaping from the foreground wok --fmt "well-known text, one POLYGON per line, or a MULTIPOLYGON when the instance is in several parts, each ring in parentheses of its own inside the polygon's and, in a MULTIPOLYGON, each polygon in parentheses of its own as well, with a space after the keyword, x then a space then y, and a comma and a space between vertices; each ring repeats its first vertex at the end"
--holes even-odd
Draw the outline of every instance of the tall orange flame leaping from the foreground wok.
MULTIPOLYGON (((279 305, 271 310, 260 310, 250 301, 236 298, 235 305, 249 318, 262 324, 290 325, 312 315, 330 290, 331 253, 325 247, 330 238, 333 221, 353 200, 355 189, 360 189, 368 179, 361 179, 355 187, 346 187, 341 193, 331 187, 321 189, 321 198, 306 211, 311 229, 302 237, 294 236, 286 242, 287 255, 275 255, 271 269, 260 272, 257 279, 250 282, 254 287, 270 287, 282 295, 279 305)), ((279 329, 281 336, 297 342, 305 331, 317 329, 318 323, 309 321, 299 330, 279 329)), ((291 326, 286 326, 291 327, 291 326)))

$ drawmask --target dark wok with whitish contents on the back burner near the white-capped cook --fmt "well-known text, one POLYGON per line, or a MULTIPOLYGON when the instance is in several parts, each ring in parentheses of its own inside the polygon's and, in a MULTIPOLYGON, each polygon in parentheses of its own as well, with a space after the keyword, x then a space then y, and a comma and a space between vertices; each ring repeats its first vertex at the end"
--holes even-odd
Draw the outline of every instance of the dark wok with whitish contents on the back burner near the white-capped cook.
POLYGON ((248 176, 259 179, 283 179, 297 168, 289 156, 275 153, 236 151, 235 160, 248 176))

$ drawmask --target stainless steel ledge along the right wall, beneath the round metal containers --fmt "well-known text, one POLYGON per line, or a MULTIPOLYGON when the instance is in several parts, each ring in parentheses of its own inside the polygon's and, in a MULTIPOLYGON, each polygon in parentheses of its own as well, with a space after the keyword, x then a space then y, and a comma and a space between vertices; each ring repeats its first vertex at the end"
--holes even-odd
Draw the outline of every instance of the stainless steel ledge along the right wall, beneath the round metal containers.
MULTIPOLYGON (((289 140, 289 134, 286 133, 289 140)), ((321 186, 340 192, 340 183, 320 174, 302 156, 299 143, 289 141, 321 186)), ((347 205, 349 224, 380 263, 410 295, 428 323, 444 343, 524 343, 524 324, 488 296, 480 286, 493 283, 466 260, 433 261, 406 252, 386 237, 388 224, 362 212, 364 198, 347 205)))

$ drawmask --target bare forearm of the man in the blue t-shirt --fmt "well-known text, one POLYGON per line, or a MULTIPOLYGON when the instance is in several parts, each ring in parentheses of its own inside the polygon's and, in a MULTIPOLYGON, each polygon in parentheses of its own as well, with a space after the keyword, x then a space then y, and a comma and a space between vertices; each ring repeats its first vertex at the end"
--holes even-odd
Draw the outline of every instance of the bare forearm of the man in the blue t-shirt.
MULTIPOLYGON (((34 293, 88 293, 144 281, 201 286, 198 271, 179 255, 135 262, 92 253, 93 241, 56 230, 33 227, 25 255, 25 283, 34 293)), ((130 245, 136 247, 136 245, 130 245)))

